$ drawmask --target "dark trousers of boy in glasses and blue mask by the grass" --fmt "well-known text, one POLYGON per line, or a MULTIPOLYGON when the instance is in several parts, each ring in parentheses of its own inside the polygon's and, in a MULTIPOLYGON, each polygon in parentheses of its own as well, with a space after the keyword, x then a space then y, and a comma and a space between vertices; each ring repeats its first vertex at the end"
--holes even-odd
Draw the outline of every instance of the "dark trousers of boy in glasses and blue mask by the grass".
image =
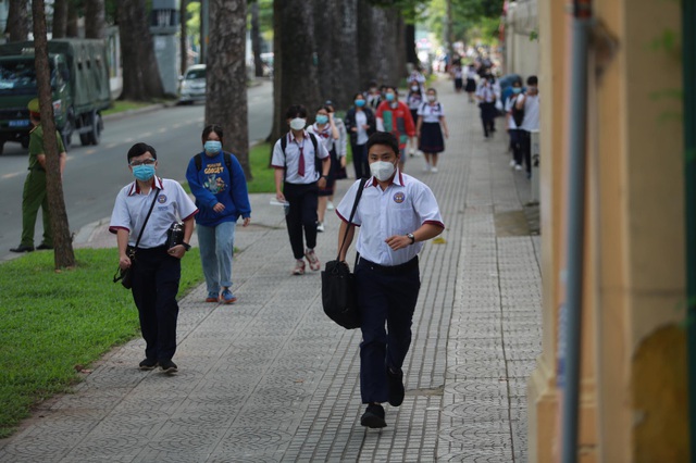
POLYGON ((169 255, 166 247, 136 251, 133 300, 138 308, 148 359, 163 361, 174 356, 181 277, 182 261, 169 255))

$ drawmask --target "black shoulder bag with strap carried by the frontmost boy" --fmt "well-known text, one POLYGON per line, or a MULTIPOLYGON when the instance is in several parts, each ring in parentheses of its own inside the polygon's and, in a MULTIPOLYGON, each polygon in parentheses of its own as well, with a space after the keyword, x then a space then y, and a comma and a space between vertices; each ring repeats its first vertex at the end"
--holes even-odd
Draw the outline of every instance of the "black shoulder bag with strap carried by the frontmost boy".
MULTIPOLYGON (((356 215, 358 202, 360 201, 366 180, 366 178, 360 180, 348 223, 352 223, 352 217, 356 215)), ((324 313, 331 320, 346 329, 355 329, 360 327, 356 276, 350 273, 350 268, 348 268, 346 262, 339 261, 340 251, 344 249, 344 246, 346 246, 347 237, 348 229, 346 229, 346 235, 344 235, 344 240, 338 249, 336 260, 326 262, 324 271, 322 271, 322 305, 324 313)))

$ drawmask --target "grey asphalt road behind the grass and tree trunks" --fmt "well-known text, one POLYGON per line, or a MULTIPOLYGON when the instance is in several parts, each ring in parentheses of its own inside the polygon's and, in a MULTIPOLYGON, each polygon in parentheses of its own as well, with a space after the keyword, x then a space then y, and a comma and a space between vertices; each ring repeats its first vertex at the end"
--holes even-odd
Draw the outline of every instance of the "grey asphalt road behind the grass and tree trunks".
MULTIPOLYGON (((248 90, 249 139, 264 139, 271 132, 273 92, 270 82, 248 90)), ((99 146, 83 147, 73 137, 63 177, 63 195, 70 228, 83 226, 111 215, 119 190, 133 179, 126 165, 127 150, 138 141, 157 149, 158 175, 184 179, 190 158, 200 151, 203 104, 163 108, 156 111, 116 116, 104 121, 99 146)), ((27 173, 27 150, 18 143, 5 143, 0 155, 0 260, 12 255, 10 248, 22 235, 22 188, 27 173)), ((39 211, 35 246, 42 234, 39 211)))

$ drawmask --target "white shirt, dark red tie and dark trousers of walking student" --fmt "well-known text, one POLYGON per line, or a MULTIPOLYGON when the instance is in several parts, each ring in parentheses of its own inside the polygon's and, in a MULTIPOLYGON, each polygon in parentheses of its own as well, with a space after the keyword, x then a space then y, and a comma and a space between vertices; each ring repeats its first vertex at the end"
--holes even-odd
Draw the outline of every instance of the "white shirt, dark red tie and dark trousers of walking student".
POLYGON ((307 247, 309 249, 316 247, 316 207, 319 203, 316 182, 321 177, 319 164, 321 164, 321 160, 328 158, 328 151, 318 140, 318 152, 315 153, 307 130, 303 133, 302 141, 298 141, 293 132, 288 132, 283 137, 287 142, 285 153, 283 152, 282 139, 279 139, 273 147, 271 165, 285 170, 283 195, 289 203, 286 209, 285 222, 293 254, 296 260, 301 260, 304 256, 302 230, 307 247))

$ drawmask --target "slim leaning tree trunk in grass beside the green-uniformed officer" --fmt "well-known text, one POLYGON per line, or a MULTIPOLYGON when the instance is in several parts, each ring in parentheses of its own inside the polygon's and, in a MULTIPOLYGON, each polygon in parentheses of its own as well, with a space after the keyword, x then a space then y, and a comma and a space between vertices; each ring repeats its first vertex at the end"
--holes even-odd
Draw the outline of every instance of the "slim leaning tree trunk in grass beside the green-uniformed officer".
POLYGON ((48 64, 48 40, 46 34, 46 10, 44 0, 34 0, 34 50, 36 84, 39 91, 39 109, 44 129, 44 151, 46 154, 46 193, 48 211, 53 230, 53 259, 55 270, 75 266, 75 254, 70 237, 63 185, 60 174, 58 137, 53 121, 53 98, 51 95, 51 72, 48 64))

